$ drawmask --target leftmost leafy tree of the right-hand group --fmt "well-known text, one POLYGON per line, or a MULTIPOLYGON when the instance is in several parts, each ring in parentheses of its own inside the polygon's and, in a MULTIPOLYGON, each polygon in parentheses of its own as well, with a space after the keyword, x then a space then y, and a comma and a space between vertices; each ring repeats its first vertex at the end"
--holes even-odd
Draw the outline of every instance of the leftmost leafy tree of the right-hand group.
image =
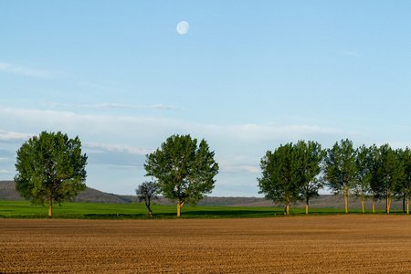
POLYGON ((303 176, 300 170, 301 157, 298 150, 287 143, 280 145, 274 153, 268 151, 261 158, 262 177, 257 178, 259 194, 266 199, 284 204, 284 215, 290 214, 290 203, 299 199, 303 176))

